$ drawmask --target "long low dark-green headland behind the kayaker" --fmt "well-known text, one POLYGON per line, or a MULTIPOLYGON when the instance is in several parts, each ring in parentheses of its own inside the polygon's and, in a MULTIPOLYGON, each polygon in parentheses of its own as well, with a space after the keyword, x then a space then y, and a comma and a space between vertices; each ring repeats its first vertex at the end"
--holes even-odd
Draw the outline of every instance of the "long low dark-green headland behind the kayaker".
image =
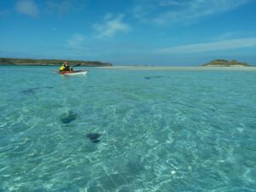
POLYGON ((87 67, 111 67, 111 63, 101 61, 73 61, 73 60, 35 60, 35 59, 13 59, 0 58, 0 65, 17 65, 17 66, 60 66, 64 61, 69 65, 81 64, 87 67))

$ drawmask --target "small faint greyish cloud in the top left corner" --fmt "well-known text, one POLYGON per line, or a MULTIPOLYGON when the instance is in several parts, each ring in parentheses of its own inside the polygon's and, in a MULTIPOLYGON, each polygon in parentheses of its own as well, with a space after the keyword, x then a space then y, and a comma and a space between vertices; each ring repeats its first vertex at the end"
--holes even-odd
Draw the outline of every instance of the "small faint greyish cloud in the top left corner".
POLYGON ((23 15, 37 16, 39 13, 38 4, 33 0, 19 0, 15 4, 15 9, 23 15))

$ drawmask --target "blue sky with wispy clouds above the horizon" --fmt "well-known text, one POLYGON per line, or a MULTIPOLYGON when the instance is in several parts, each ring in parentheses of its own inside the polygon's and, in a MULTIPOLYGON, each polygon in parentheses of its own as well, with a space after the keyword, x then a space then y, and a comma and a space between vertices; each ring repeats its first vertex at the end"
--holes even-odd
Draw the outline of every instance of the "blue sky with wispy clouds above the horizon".
POLYGON ((256 64, 256 0, 2 0, 0 57, 256 64))

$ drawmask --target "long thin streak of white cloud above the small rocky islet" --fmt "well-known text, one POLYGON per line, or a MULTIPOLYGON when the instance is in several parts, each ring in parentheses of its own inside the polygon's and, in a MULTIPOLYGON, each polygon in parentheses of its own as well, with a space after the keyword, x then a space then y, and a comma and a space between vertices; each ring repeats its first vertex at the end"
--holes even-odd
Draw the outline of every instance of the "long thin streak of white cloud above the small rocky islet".
POLYGON ((185 44, 170 48, 157 49, 157 54, 190 54, 214 50, 239 49, 256 47, 256 38, 237 38, 226 41, 210 42, 205 44, 185 44))

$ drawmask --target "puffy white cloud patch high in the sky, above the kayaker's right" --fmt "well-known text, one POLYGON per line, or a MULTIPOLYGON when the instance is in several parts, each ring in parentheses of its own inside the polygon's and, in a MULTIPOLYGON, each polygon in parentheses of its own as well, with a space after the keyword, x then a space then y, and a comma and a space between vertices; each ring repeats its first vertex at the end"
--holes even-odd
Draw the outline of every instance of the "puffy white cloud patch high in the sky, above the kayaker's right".
POLYGON ((102 23, 96 23, 93 28, 97 33, 98 38, 111 38, 118 32, 129 32, 131 26, 123 21, 124 15, 112 14, 105 15, 102 23))

